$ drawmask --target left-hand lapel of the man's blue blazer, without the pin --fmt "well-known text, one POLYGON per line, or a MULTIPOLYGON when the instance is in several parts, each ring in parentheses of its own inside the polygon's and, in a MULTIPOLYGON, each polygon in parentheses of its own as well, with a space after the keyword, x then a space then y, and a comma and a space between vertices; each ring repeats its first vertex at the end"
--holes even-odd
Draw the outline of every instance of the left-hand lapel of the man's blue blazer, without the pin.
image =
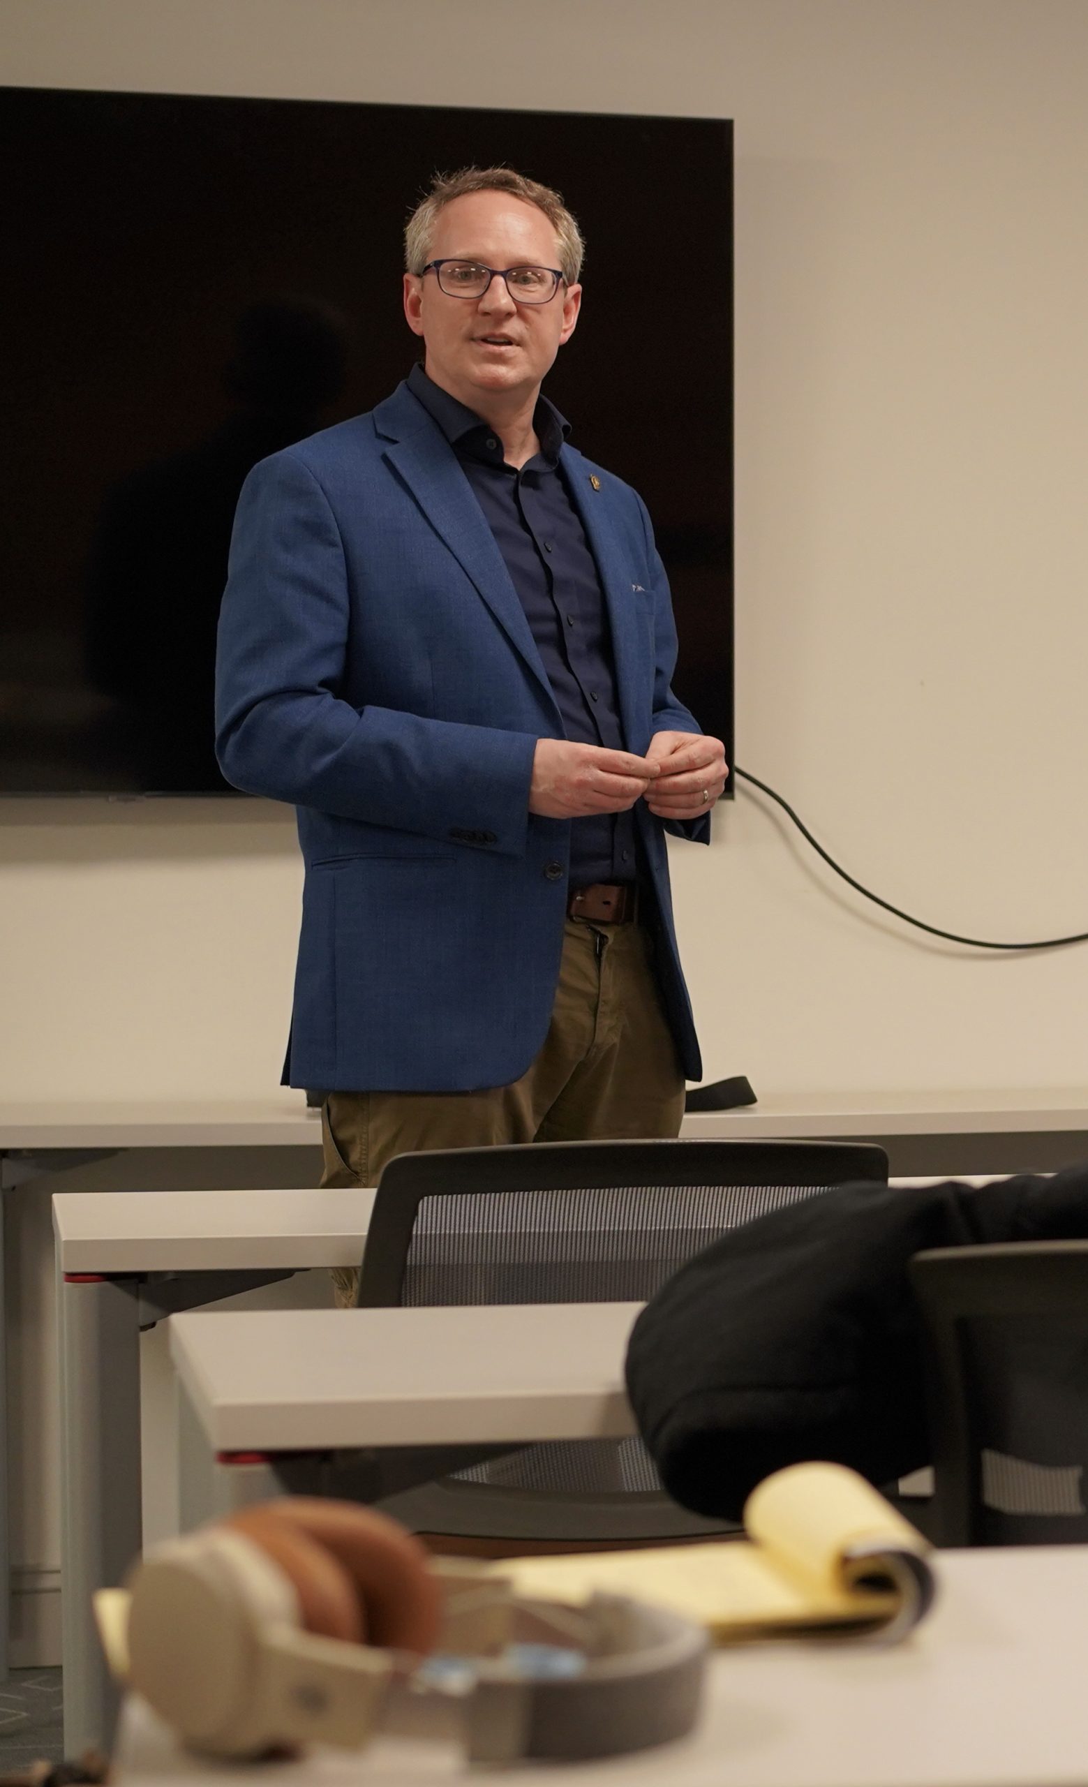
POLYGON ((502 552, 472 493, 457 454, 427 411, 404 386, 373 411, 379 434, 386 436, 384 457, 407 484, 420 509, 472 577, 481 597, 507 634, 527 670, 556 704, 543 659, 502 552))

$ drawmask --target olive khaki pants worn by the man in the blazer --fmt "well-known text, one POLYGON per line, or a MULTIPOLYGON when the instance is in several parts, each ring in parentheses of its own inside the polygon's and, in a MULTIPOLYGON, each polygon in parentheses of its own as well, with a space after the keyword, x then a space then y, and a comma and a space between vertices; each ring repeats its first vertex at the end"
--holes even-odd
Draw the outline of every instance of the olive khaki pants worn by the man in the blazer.
MULTIPOLYGON (((566 920, 545 1044, 511 1086, 484 1092, 331 1092, 322 1112, 327 1185, 377 1185, 393 1154, 504 1142, 675 1137, 684 1078, 640 924, 566 920)), ((334 1271, 336 1301, 359 1274, 334 1271)))

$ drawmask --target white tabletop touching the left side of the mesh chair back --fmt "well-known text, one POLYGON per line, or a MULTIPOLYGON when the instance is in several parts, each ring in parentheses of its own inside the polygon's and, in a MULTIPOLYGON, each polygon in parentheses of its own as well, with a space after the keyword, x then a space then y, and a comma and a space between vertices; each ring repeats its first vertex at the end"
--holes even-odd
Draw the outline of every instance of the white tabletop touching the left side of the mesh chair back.
POLYGON ((59 1192, 63 1272, 359 1265, 373 1190, 59 1192))

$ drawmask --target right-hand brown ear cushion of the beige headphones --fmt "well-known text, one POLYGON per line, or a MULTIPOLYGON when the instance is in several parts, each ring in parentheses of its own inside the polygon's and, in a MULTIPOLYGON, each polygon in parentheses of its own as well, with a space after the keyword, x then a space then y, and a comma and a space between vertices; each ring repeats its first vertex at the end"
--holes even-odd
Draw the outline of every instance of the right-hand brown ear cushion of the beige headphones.
POLYGON ((404 1526, 354 1501, 286 1496, 261 1510, 323 1546, 352 1580, 363 1640, 425 1655, 438 1642, 443 1596, 425 1548, 404 1526))

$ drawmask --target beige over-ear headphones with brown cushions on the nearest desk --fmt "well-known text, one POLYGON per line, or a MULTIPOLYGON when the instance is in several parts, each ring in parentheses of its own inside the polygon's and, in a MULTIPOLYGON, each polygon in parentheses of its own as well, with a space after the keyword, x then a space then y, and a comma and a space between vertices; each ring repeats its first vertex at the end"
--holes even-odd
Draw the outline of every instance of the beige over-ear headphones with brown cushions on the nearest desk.
POLYGON ((593 1757, 684 1735, 707 1639, 622 1596, 516 1598, 384 1515, 286 1498, 152 1549, 127 1680, 195 1749, 255 1757, 381 1733, 472 1760, 593 1757))

